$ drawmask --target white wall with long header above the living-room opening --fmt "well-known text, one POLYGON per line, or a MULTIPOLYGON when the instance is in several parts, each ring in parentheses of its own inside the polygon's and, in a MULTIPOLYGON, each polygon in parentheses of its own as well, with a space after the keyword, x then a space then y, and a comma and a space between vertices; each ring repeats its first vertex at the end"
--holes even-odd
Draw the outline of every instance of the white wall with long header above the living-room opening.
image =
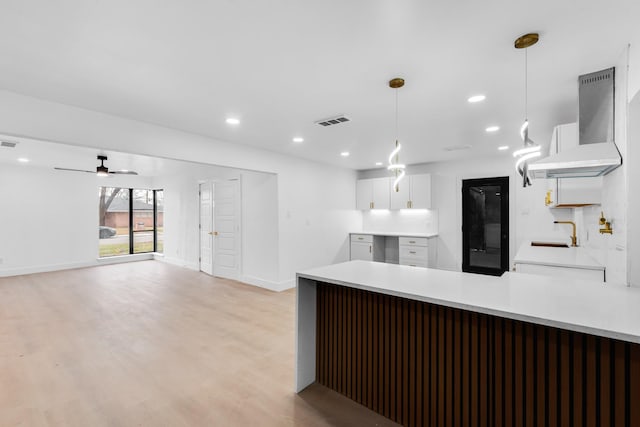
POLYGON ((362 226, 350 170, 9 91, 0 91, 0 133, 277 174, 278 289, 298 270, 346 261, 347 233, 362 226))

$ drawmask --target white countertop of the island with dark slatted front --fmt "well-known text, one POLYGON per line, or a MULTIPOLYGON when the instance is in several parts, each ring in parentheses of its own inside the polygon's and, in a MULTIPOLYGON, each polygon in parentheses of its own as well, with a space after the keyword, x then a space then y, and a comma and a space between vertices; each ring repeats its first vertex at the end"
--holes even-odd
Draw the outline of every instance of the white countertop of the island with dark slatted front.
POLYGON ((502 277, 369 261, 298 277, 640 343, 640 288, 522 273, 502 277))

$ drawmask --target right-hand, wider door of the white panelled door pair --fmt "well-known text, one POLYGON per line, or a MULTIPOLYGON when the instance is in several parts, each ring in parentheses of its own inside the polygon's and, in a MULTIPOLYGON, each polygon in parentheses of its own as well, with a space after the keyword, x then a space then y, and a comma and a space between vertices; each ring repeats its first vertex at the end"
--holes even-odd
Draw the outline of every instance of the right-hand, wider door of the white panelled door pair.
POLYGON ((213 194, 213 274, 237 279, 240 271, 240 181, 215 182, 213 194))

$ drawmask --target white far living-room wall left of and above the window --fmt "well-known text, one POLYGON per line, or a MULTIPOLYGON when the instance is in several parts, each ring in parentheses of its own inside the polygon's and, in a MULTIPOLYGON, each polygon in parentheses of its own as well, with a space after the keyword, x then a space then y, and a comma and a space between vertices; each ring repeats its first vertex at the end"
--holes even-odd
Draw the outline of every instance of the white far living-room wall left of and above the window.
POLYGON ((0 166, 0 276, 96 265, 98 187, 138 186, 31 165, 0 166))

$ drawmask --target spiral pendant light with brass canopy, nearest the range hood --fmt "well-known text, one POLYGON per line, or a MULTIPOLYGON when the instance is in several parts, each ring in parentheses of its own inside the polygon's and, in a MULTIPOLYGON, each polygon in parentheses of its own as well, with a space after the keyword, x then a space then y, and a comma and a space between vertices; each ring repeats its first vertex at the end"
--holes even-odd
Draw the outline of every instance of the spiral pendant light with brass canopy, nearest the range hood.
POLYGON ((540 157, 540 145, 529 138, 529 117, 527 109, 528 96, 528 73, 527 73, 527 48, 538 42, 538 33, 529 33, 516 39, 514 46, 516 49, 524 49, 524 123, 520 126, 520 138, 524 147, 513 152, 516 160, 516 171, 522 176, 522 186, 531 185, 529 178, 529 160, 540 157))

